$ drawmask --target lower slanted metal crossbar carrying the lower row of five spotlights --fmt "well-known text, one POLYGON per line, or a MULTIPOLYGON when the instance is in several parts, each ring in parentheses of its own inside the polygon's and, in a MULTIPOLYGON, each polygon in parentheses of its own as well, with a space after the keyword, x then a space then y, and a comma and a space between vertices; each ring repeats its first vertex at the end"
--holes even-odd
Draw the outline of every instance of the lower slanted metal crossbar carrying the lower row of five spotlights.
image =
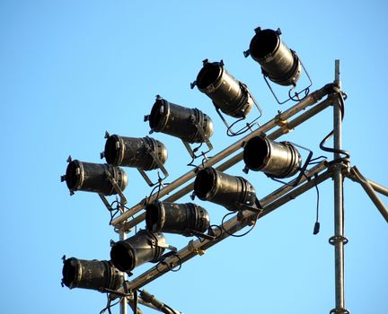
MULTIPOLYGON (((295 199, 297 196, 300 196, 305 191, 309 190, 310 188, 313 188, 315 185, 322 183, 324 180, 331 178, 331 171, 326 170, 322 174, 312 179, 315 173, 318 173, 318 171, 322 170, 322 168, 324 169, 324 167, 325 165, 319 164, 313 167, 308 172, 306 172, 306 177, 308 179, 303 177, 299 182, 299 185, 291 191, 289 191, 289 189, 292 186, 293 181, 289 182, 282 188, 279 188, 277 191, 273 192, 269 196, 264 197, 261 201, 269 205, 264 206, 263 212, 257 219, 262 218, 263 216, 274 211, 281 205, 284 205, 290 200, 295 199), (289 193, 287 193, 288 191, 289 193), (281 196, 278 199, 275 199, 282 193, 287 194, 281 196)), ((149 270, 145 271, 145 273, 138 275, 136 278, 129 281, 127 283, 128 290, 138 289, 144 286, 145 284, 154 281, 161 275, 166 274, 171 269, 171 267, 179 266, 180 264, 188 261, 190 258, 198 255, 198 253, 200 253, 201 251, 216 245, 216 243, 220 242, 221 240, 225 240, 230 234, 233 234, 236 231, 240 231, 242 230, 242 228, 250 224, 252 222, 252 219, 254 219, 256 215, 257 214, 253 214, 251 211, 248 210, 244 210, 239 214, 236 214, 234 217, 224 222, 223 227, 227 232, 221 231, 220 228, 213 229, 214 233, 216 234, 216 240, 202 240, 202 242, 200 240, 191 240, 186 247, 177 252, 177 256, 167 257, 163 261, 163 264, 159 264, 159 266, 154 266, 149 270)))

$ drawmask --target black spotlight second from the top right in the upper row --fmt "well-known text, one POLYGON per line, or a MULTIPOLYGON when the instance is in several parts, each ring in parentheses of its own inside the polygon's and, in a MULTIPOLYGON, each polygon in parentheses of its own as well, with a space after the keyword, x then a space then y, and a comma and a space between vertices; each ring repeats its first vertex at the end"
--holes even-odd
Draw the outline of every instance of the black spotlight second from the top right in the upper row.
POLYGON ((254 104, 248 89, 229 74, 223 62, 204 61, 197 76, 197 86, 216 108, 234 118, 245 118, 254 104))

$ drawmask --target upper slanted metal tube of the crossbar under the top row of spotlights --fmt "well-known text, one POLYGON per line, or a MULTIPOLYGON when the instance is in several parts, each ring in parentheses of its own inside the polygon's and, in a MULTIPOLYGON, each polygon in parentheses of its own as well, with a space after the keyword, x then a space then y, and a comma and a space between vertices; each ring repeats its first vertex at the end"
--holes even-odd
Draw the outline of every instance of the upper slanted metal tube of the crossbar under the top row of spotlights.
MULTIPOLYGON (((224 160, 226 157, 230 156, 231 154, 237 152, 242 147, 242 143, 248 141, 253 136, 261 135, 262 133, 268 132, 273 127, 277 126, 278 121, 286 121, 287 118, 291 118, 296 113, 300 112, 301 110, 305 109, 308 106, 313 105, 317 101, 321 100, 323 96, 327 95, 328 91, 325 87, 323 87, 320 90, 317 90, 315 92, 312 92, 309 96, 307 96, 304 100, 298 102, 295 104, 295 106, 291 107, 290 109, 287 109, 285 112, 282 112, 279 114, 276 118, 273 118, 269 120, 266 124, 260 126, 259 129, 255 130, 249 135, 244 136, 239 141, 235 142, 234 144, 230 145, 229 147, 226 147, 223 151, 220 153, 217 153, 215 156, 210 158, 204 163, 205 167, 212 167, 217 162, 224 160)), ((281 132, 283 134, 283 132, 281 132)), ((241 160, 241 159, 240 159, 241 160)), ((172 190, 175 188, 179 188, 182 184, 185 184, 190 179, 193 179, 195 177, 194 170, 190 170, 188 173, 184 174, 180 178, 173 181, 168 186, 162 188, 159 193, 154 193, 152 196, 150 196, 150 200, 153 201, 156 196, 159 194, 159 197, 166 196, 169 194, 172 190)), ((130 208, 127 212, 119 215, 116 219, 114 219, 111 224, 113 226, 118 225, 119 223, 125 222, 130 216, 133 216, 137 214, 142 208, 143 208, 143 202, 138 203, 137 205, 134 205, 132 208, 130 208)))

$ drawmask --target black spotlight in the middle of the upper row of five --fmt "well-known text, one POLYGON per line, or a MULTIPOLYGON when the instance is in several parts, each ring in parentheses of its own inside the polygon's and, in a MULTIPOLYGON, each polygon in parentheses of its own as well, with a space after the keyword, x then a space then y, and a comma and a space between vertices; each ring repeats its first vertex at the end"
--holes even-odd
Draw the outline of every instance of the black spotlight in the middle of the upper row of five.
POLYGON ((205 141, 194 120, 207 138, 213 135, 212 119, 199 109, 182 107, 157 97, 149 115, 149 125, 154 132, 176 136, 190 144, 203 143, 205 141))

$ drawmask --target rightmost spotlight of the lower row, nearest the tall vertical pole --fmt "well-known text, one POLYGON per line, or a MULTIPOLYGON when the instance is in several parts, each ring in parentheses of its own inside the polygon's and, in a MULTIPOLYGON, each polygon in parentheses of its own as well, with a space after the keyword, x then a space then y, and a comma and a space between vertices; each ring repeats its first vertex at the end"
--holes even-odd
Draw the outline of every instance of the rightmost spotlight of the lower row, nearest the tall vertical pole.
POLYGON ((278 143, 255 136, 244 145, 243 161, 250 170, 281 179, 295 175, 302 159, 295 146, 288 142, 278 143))

